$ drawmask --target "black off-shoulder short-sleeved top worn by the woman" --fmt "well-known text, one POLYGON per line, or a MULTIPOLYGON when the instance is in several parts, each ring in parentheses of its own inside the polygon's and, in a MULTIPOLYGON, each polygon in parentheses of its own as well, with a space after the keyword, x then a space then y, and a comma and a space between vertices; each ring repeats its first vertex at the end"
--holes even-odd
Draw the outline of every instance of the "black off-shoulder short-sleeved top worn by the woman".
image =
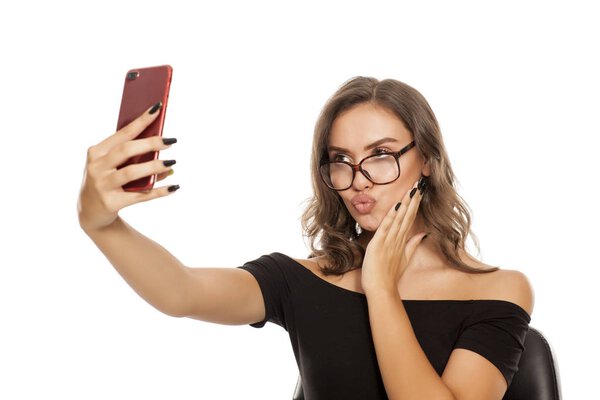
MULTIPOLYGON (((266 322, 289 334, 306 399, 387 399, 364 294, 329 283, 294 259, 264 255, 239 267, 257 280, 266 322)), ((510 384, 530 317, 503 300, 403 300, 415 335, 441 376, 455 348, 494 364, 510 384)))

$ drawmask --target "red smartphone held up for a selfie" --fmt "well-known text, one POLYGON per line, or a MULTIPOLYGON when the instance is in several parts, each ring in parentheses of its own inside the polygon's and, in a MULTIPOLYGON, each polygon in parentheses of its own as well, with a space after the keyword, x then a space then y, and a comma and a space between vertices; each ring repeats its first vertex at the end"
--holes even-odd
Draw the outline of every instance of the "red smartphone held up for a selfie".
MULTIPOLYGON (((136 137, 136 139, 162 136, 172 76, 173 68, 171 68, 170 65, 136 68, 127 71, 127 74, 125 75, 125 85, 123 87, 123 97, 121 99, 121 109, 119 111, 119 121, 117 122, 117 130, 123 128, 139 117, 153 104, 161 101, 162 107, 159 110, 160 114, 136 137)), ((140 154, 131 157, 125 161, 125 163, 120 165, 119 168, 126 167, 130 164, 139 164, 156 160, 157 158, 157 151, 140 154)), ((131 181, 123 185, 123 189, 127 191, 150 190, 154 186, 155 181, 156 175, 151 175, 131 181)))

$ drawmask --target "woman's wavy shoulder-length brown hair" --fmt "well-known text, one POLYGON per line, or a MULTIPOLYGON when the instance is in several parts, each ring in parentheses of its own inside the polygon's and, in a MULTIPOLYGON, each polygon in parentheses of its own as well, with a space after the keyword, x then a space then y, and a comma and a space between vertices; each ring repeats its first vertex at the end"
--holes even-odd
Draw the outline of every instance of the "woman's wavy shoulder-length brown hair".
POLYGON ((386 79, 355 77, 343 84, 327 101, 317 120, 311 156, 314 196, 302 215, 302 228, 309 239, 309 258, 326 256, 329 265, 322 267, 326 275, 341 275, 360 268, 365 249, 356 240, 356 221, 341 197, 329 189, 319 176, 319 163, 327 157, 329 134, 333 121, 342 112, 371 102, 393 112, 412 133, 416 148, 427 161, 431 175, 419 214, 449 264, 470 273, 491 272, 497 268, 477 269, 460 258, 471 235, 479 251, 477 237, 471 231, 469 207, 455 188, 455 176, 444 147, 440 128, 431 107, 417 90, 405 83, 386 79))

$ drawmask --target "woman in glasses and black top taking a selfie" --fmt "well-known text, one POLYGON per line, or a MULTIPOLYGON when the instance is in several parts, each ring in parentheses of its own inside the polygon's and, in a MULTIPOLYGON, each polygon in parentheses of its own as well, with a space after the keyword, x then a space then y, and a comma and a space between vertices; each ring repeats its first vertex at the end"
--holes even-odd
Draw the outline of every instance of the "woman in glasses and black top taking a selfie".
POLYGON ((173 162, 120 170, 173 140, 133 140, 156 107, 88 151, 84 231, 146 301, 172 316, 284 327, 306 399, 501 399, 533 308, 526 277, 465 250, 470 216, 433 112, 415 89, 355 78, 316 124, 309 259, 189 268, 118 216, 178 186, 126 193, 173 162))

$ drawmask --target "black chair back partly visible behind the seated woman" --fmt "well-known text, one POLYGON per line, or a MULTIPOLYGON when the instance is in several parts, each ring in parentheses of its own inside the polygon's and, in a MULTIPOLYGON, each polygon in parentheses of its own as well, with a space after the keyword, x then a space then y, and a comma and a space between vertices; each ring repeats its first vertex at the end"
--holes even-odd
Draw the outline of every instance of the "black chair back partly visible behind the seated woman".
MULTIPOLYGON (((540 331, 529 327, 519 371, 502 400, 560 400, 560 377, 550 344, 540 331)), ((292 400, 304 400, 302 381, 298 377, 292 400)))

